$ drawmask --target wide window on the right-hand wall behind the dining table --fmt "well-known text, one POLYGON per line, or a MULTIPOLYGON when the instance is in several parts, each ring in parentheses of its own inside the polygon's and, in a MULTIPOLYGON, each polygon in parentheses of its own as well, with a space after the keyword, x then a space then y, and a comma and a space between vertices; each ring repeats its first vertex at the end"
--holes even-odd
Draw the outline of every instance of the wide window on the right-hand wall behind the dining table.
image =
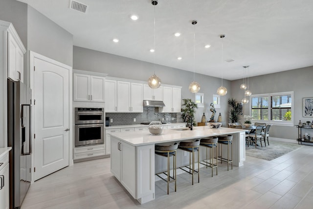
POLYGON ((293 92, 251 95, 253 120, 274 124, 293 124, 293 92))

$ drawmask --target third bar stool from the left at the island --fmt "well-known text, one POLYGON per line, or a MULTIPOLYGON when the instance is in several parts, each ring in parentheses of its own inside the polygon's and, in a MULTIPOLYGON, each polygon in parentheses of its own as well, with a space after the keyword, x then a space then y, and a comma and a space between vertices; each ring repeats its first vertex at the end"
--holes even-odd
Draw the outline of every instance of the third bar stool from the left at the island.
POLYGON ((216 175, 217 175, 217 160, 216 160, 216 164, 213 163, 214 160, 214 147, 216 147, 216 159, 218 158, 218 138, 217 137, 208 137, 205 139, 201 139, 200 140, 200 146, 204 146, 206 148, 206 160, 204 160, 204 163, 201 163, 203 165, 206 165, 206 168, 209 166, 212 168, 212 177, 213 177, 213 169, 216 168, 216 175), (210 159, 208 162, 207 159, 207 148, 210 149, 210 159), (211 159, 212 159, 212 163, 211 163, 211 159))

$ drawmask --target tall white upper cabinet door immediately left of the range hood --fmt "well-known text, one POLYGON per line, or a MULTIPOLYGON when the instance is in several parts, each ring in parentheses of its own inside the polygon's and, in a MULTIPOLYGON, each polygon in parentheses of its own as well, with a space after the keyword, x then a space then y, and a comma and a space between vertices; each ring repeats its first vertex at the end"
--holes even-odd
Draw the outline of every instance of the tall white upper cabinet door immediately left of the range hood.
POLYGON ((131 111, 133 113, 143 112, 143 84, 131 84, 131 111))

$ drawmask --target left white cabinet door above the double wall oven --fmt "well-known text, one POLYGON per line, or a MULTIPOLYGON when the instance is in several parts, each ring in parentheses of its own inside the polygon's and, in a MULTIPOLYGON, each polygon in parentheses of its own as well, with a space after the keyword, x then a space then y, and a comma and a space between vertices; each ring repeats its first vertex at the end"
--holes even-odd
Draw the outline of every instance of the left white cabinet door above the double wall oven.
POLYGON ((74 73, 73 81, 73 100, 89 101, 90 100, 90 75, 74 73))

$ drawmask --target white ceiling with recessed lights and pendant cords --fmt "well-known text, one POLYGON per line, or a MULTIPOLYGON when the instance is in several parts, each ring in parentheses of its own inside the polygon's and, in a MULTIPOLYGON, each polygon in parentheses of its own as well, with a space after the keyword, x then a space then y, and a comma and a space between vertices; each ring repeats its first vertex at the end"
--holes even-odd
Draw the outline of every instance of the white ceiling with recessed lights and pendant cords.
POLYGON ((313 0, 158 0, 155 55, 149 51, 151 0, 79 0, 89 6, 86 14, 69 9, 69 0, 20 1, 73 34, 74 46, 182 70, 194 70, 194 31, 195 71, 201 74, 221 77, 223 71, 225 79, 236 80, 246 65, 249 76, 313 66, 313 0), (234 62, 222 62, 220 34, 223 60, 234 62))

